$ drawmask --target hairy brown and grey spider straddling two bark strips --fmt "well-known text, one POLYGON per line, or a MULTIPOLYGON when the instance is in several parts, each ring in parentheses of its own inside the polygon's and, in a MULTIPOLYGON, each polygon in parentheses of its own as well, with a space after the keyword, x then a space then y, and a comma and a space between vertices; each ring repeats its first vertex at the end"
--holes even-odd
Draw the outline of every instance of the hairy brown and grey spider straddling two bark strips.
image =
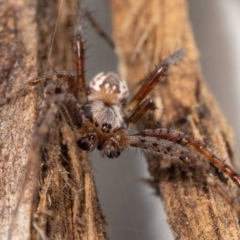
MULTIPOLYGON (((152 119, 156 106, 147 96, 167 74, 169 68, 185 56, 185 51, 180 49, 159 64, 145 79, 132 100, 127 102, 127 84, 116 73, 100 73, 90 81, 88 88, 85 87, 83 44, 81 29, 76 28, 76 73, 58 71, 53 75, 34 78, 23 88, 25 90, 29 86, 47 83, 33 135, 33 146, 43 142, 55 117, 60 114, 72 130, 81 150, 91 152, 98 149, 103 156, 117 158, 124 149, 133 147, 180 159, 196 167, 240 215, 239 206, 214 180, 210 169, 188 149, 189 146, 194 147, 202 157, 207 158, 240 186, 239 174, 215 155, 205 143, 170 128, 150 128, 133 135, 128 134, 143 115, 149 112, 152 119), (67 88, 58 84, 62 78, 67 79, 67 88)), ((4 98, 0 104, 4 105, 11 99, 12 96, 4 98)), ((30 159, 34 159, 38 151, 38 148, 32 148, 30 159)))

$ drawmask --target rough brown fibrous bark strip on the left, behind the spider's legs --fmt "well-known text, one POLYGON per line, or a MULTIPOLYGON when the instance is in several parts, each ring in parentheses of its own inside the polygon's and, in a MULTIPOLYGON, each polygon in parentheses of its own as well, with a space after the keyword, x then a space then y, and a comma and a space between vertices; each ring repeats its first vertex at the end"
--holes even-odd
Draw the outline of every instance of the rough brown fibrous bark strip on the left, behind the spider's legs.
MULTIPOLYGON (((30 78, 48 74, 47 58, 61 2, 0 2, 0 97, 30 78)), ((69 48, 77 1, 62 4, 49 62, 57 70, 70 69, 67 64, 72 59, 69 48)), ((41 151, 40 178, 36 179, 40 169, 27 176, 21 203, 14 212, 26 173, 41 87, 0 109, 0 239, 106 239, 89 159, 59 119, 51 125, 41 151)))

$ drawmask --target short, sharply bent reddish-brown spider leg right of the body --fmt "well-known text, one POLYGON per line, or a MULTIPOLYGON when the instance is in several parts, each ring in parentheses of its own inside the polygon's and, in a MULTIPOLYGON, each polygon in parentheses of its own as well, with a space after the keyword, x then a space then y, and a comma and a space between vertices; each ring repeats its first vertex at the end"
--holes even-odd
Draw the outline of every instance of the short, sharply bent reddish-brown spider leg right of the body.
POLYGON ((134 109, 132 115, 128 118, 128 128, 131 129, 139 119, 149 111, 148 128, 154 127, 154 112, 156 110, 155 102, 151 99, 144 100, 137 108, 134 109))

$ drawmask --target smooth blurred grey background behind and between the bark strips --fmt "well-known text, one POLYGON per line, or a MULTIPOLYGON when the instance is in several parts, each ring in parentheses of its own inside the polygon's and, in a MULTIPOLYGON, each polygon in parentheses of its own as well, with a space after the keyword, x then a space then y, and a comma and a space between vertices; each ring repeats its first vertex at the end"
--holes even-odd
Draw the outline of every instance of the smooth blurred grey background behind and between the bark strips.
MULTIPOLYGON (((201 53, 204 78, 234 129, 240 146, 240 1, 189 1, 189 14, 201 53)), ((111 35, 106 0, 86 0, 85 5, 111 35)), ((86 24, 87 25, 87 24, 86 24)), ((101 71, 117 71, 117 58, 107 43, 86 26, 87 79, 101 71)), ((140 179, 149 176, 140 151, 127 150, 118 159, 92 154, 100 204, 108 222, 110 240, 173 239, 166 216, 153 190, 140 179)))

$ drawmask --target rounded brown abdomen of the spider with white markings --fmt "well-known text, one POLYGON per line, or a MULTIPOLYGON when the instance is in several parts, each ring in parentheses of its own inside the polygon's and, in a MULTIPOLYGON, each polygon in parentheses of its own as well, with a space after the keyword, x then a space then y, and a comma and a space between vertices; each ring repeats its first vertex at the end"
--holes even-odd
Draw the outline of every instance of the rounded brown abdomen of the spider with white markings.
POLYGON ((128 95, 125 80, 113 72, 99 73, 89 83, 89 101, 101 100, 109 104, 124 105, 128 95))

